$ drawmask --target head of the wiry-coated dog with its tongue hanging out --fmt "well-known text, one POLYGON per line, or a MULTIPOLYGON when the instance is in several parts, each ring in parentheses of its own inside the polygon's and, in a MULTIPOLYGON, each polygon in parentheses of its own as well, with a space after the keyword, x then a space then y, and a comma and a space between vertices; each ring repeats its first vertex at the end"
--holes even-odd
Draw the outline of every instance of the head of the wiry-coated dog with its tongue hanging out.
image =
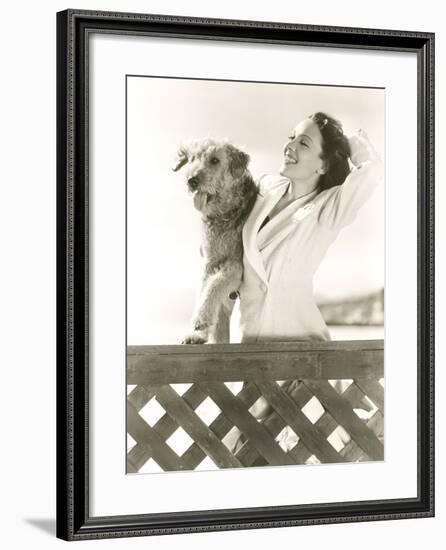
POLYGON ((233 145, 211 139, 181 147, 174 171, 186 168, 186 183, 194 194, 194 205, 204 214, 217 203, 228 202, 234 186, 244 174, 249 156, 233 145))

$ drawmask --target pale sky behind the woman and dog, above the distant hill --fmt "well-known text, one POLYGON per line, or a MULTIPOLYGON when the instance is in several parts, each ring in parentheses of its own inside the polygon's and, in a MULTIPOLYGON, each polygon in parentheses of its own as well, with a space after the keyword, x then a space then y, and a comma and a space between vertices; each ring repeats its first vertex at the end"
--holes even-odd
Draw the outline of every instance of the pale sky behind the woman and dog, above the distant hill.
MULTIPOLYGON (((385 90, 308 84, 127 78, 128 344, 172 344, 188 331, 198 280, 200 218, 181 171, 181 143, 226 138, 251 157, 254 177, 277 174, 283 144, 324 111, 347 135, 362 128, 384 158, 385 90)), ((318 299, 384 287, 384 187, 342 230, 314 280, 318 299)))

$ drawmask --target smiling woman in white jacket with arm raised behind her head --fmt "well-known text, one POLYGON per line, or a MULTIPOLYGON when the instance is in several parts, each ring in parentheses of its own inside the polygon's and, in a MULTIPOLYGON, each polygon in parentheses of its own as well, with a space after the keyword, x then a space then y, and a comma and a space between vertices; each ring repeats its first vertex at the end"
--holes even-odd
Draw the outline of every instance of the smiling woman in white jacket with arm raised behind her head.
MULTIPOLYGON (((348 139, 325 113, 297 124, 284 148, 280 176, 261 178, 243 229, 241 342, 330 339, 314 299, 313 276, 382 175, 382 162, 361 130, 348 139)), ((283 388, 291 391, 297 383, 283 388)), ((266 418, 270 408, 261 398, 251 412, 266 418)), ((283 448, 294 446, 293 436, 285 431, 283 448)), ((229 446, 237 450, 243 436, 233 433, 232 441, 229 446)))

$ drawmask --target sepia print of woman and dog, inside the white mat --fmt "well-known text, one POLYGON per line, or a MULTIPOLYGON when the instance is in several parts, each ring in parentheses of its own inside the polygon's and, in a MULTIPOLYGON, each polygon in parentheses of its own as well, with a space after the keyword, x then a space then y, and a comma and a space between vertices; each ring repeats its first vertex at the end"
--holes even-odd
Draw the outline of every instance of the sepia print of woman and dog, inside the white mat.
POLYGON ((385 459, 385 94, 126 76, 128 474, 385 459))

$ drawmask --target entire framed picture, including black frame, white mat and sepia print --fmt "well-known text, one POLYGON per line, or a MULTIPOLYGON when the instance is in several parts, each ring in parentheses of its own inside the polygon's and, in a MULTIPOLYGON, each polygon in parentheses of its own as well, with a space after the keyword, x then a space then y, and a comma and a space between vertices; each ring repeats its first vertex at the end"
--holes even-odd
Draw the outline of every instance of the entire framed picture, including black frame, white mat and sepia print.
POLYGON ((432 516, 434 35, 57 31, 57 535, 432 516))

